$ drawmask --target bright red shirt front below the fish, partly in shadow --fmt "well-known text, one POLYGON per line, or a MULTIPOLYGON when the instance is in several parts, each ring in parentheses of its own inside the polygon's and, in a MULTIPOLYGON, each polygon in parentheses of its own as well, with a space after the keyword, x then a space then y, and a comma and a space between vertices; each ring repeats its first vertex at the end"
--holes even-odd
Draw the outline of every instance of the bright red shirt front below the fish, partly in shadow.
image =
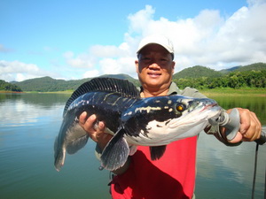
POLYGON ((197 136, 168 144, 159 160, 140 146, 127 172, 113 178, 114 199, 192 198, 195 187, 197 136))

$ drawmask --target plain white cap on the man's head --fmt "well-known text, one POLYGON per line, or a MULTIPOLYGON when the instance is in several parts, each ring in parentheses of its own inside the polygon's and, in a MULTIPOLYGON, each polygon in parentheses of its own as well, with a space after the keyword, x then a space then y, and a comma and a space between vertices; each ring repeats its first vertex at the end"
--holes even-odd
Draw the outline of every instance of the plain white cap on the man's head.
POLYGON ((137 54, 140 50, 142 50, 146 45, 149 44, 159 44, 166 50, 168 50, 169 53, 171 53, 174 57, 174 46, 173 43, 165 36, 163 35, 150 35, 142 39, 141 42, 139 42, 138 48, 137 48, 137 54))

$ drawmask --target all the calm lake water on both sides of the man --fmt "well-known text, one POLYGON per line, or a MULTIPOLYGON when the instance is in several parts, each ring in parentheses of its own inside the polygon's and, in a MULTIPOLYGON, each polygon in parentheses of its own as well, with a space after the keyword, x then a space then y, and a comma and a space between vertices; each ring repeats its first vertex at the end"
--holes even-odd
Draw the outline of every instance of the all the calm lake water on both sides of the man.
MULTIPOLYGON (((98 170, 94 142, 53 166, 53 142, 59 133, 64 94, 0 94, 0 198, 108 199, 109 172, 98 170)), ((266 125, 265 96, 215 98, 225 109, 248 108, 266 125)), ((251 198, 254 142, 226 147, 200 134, 197 199, 251 198)), ((266 146, 259 148, 255 198, 263 198, 266 146)))

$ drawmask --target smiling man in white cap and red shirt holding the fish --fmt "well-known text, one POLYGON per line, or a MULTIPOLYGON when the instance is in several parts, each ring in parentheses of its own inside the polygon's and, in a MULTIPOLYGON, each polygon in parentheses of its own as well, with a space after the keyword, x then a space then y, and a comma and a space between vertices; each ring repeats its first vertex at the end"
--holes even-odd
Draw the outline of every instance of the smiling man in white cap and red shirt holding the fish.
MULTIPOLYGON (((175 69, 174 49, 165 37, 153 35, 140 42, 135 61, 138 79, 141 82, 142 97, 179 94, 192 97, 205 97, 196 89, 183 91, 172 82, 175 69)), ((230 112, 230 111, 229 111, 230 112)), ((239 109, 240 128, 232 143, 254 141, 260 137, 262 126, 255 114, 239 109)), ((86 119, 86 112, 80 117, 80 125, 98 142, 99 152, 104 149, 112 135, 105 133, 105 125, 99 122, 94 129, 95 115, 86 119)), ((209 126, 206 131, 209 130, 209 126)), ((215 129, 218 139, 227 145, 223 134, 225 129, 215 129)), ((212 129, 214 133, 214 129, 212 129)), ((197 136, 172 142, 159 160, 152 161, 149 148, 140 146, 137 152, 128 158, 111 184, 113 198, 192 198, 195 187, 197 136)))

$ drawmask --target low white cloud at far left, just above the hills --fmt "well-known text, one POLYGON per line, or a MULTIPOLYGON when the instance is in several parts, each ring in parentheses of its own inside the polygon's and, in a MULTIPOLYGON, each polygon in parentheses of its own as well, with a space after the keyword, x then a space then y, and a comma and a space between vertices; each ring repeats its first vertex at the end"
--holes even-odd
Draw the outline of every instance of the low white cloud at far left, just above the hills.
POLYGON ((0 79, 1 80, 27 80, 36 77, 53 75, 53 73, 41 70, 37 65, 25 64, 19 61, 0 60, 0 79))

